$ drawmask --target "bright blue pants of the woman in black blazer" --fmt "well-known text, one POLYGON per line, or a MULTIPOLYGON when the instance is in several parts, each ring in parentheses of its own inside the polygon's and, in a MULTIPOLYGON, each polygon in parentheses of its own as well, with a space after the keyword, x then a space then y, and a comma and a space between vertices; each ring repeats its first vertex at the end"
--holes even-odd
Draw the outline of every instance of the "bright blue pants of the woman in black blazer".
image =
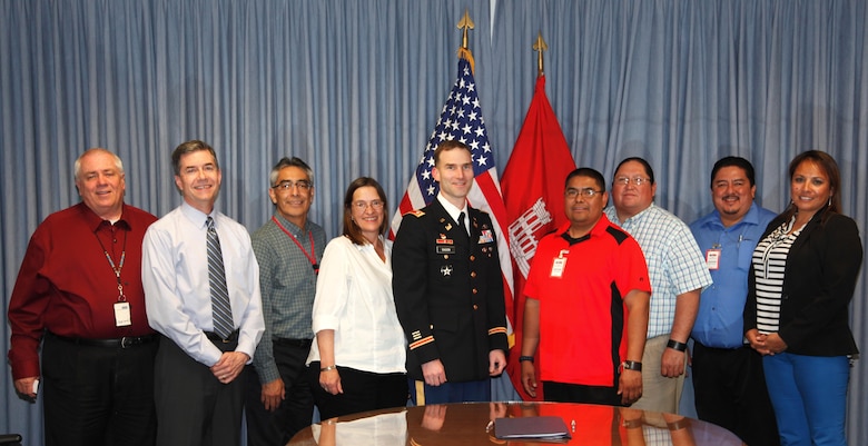
POLYGON ((762 366, 782 446, 847 446, 846 356, 782 353, 765 356, 762 366))

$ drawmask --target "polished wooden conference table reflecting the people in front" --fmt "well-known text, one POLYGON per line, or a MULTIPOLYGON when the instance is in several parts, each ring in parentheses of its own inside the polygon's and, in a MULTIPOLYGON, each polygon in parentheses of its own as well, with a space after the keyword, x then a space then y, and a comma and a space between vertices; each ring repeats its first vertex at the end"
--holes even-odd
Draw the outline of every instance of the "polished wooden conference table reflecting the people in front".
POLYGON ((501 440, 489 422, 502 417, 560 416, 568 445, 742 446, 729 430, 680 415, 570 403, 467 403, 365 412, 306 427, 287 445, 462 446, 549 445, 501 440), (575 427, 572 428, 572 423, 575 427))

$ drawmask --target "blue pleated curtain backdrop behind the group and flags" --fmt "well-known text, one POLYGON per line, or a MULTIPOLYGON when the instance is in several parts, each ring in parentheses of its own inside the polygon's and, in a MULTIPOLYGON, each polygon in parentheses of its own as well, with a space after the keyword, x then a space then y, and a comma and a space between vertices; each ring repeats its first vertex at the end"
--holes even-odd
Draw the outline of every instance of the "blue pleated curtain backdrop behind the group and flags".
MULTIPOLYGON (((88 147, 117 151, 127 202, 158 216, 180 201, 170 152, 194 138, 218 152, 218 206, 250 231, 272 214, 267 174, 282 156, 314 168, 312 218, 329 237, 352 179, 377 178, 397 202, 455 80, 465 9, 501 170, 542 32, 548 95, 580 166, 611 178, 645 157, 657 204, 689 222, 712 209, 718 158, 752 160, 758 200, 780 210, 789 160, 822 149, 841 167, 845 211, 868 227, 862 0, 0 0, 3 307, 33 229, 78 201, 72 162, 88 147)), ((852 305, 862 349, 865 272, 852 305)), ((868 444, 866 376, 857 361, 852 445, 868 444)), ((0 369, 0 433, 41 444, 40 410, 0 369)))

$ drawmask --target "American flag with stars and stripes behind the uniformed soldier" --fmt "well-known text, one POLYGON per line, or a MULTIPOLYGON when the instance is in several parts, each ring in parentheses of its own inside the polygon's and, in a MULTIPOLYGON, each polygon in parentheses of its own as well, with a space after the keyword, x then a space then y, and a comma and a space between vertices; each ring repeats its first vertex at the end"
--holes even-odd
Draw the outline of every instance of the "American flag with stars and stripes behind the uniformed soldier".
MULTIPOLYGON (((462 49, 458 58, 458 77, 450 91, 446 103, 443 106, 437 125, 431 133, 431 139, 425 146, 425 152, 416 167, 416 172, 410 179, 407 190, 398 205, 398 211, 392 219, 392 234, 394 236, 401 226, 403 215, 414 209, 425 207, 440 191, 440 184, 434 181, 431 170, 434 168, 434 150, 446 140, 456 139, 466 143, 473 152, 473 188, 467 196, 471 207, 489 212, 497 235, 497 250, 501 260, 501 271, 504 277, 504 298, 506 299, 506 314, 512 314, 512 260, 507 234, 504 230, 506 207, 501 197, 501 187, 497 179, 497 168, 494 165, 494 153, 489 143, 489 133, 485 131, 485 120, 482 118, 482 108, 476 92, 476 81, 473 79, 472 60, 470 50, 462 49)), ((512 334, 512 320, 507 318, 507 330, 512 334)))

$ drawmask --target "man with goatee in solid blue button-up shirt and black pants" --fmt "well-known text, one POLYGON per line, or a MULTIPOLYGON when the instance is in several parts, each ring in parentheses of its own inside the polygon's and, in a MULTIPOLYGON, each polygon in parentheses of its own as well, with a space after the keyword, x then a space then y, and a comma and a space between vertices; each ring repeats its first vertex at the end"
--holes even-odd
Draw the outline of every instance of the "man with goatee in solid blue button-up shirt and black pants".
POLYGON ((714 284, 702 291, 693 324, 693 388, 697 414, 749 445, 778 445, 762 358, 744 344, 742 311, 748 271, 762 231, 775 212, 753 202, 753 166, 726 157, 711 170, 714 211, 690 225, 714 284))

